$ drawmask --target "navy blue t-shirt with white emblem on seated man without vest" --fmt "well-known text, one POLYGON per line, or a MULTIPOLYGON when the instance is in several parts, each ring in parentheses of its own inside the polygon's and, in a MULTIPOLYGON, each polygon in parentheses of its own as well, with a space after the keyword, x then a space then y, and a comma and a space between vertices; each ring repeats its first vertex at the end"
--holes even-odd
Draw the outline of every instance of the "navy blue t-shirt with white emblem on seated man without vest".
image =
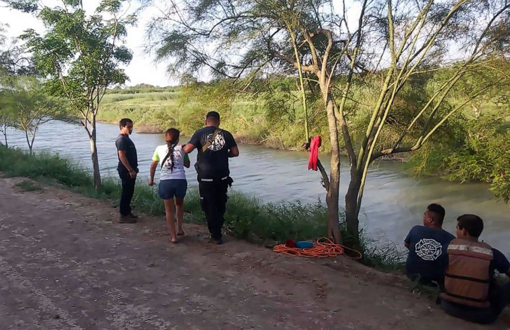
POLYGON ((406 261, 408 275, 422 278, 442 278, 448 266, 448 244, 455 237, 443 229, 414 226, 407 234, 409 244, 406 261))

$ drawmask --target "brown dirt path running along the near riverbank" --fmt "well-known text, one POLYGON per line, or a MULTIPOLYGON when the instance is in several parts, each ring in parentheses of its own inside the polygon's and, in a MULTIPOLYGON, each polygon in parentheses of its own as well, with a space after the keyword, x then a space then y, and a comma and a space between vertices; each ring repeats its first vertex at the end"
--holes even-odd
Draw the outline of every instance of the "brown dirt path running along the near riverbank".
MULTIPOLYGON (((285 257, 108 203, 0 179, 0 324, 19 329, 487 329, 446 316, 402 278, 345 258, 285 257)), ((503 322, 489 328, 503 329, 503 322)))

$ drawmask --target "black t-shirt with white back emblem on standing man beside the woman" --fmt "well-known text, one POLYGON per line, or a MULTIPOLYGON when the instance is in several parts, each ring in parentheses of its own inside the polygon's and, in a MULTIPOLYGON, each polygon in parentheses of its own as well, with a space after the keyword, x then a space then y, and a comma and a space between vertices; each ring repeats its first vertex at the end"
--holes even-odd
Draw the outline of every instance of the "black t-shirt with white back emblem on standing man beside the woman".
POLYGON ((202 147, 212 138, 216 127, 208 126, 197 130, 191 137, 190 144, 198 150, 197 171, 200 179, 222 179, 228 177, 228 152, 237 144, 229 131, 221 130, 205 152, 202 147))

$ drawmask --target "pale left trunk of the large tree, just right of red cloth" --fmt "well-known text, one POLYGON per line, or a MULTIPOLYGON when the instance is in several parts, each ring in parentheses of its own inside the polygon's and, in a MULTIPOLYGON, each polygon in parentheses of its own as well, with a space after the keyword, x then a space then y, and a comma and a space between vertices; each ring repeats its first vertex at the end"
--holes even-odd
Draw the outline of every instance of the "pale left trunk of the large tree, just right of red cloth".
POLYGON ((340 230, 338 229, 338 195, 340 190, 340 145, 338 143, 338 127, 334 112, 333 101, 327 98, 327 123, 330 130, 331 142, 331 172, 330 186, 326 194, 327 204, 327 234, 336 243, 340 243, 340 230))

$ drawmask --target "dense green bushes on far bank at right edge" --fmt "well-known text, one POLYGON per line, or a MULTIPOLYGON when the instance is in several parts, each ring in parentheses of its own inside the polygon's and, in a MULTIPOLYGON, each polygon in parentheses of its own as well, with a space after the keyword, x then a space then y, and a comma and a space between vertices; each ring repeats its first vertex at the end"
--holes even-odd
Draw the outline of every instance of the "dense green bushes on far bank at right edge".
POLYGON ((510 122, 508 104, 496 112, 458 122, 458 133, 450 143, 430 145, 411 158, 417 174, 440 174, 444 179, 484 181, 494 195, 510 201, 510 122), (452 143, 453 141, 453 143, 452 143))

